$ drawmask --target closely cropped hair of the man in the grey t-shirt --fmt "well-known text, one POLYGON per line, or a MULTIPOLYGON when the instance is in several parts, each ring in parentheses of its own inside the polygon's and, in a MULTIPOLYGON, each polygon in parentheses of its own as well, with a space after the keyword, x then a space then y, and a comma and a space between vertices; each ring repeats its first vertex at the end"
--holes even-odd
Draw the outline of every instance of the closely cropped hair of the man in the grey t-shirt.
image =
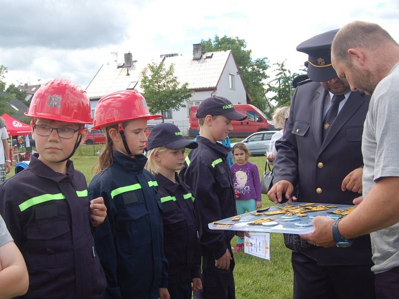
POLYGON ((392 36, 375 23, 354 21, 342 27, 334 37, 331 45, 332 54, 335 59, 347 61, 348 49, 363 48, 376 50, 381 44, 392 42, 398 43, 392 36))

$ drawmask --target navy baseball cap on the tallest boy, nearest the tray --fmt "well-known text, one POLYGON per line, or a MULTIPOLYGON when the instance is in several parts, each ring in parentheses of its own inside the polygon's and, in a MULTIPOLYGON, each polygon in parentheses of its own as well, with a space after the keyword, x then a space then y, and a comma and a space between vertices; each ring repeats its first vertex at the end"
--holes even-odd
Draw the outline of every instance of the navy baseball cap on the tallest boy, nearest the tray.
POLYGON ((229 120, 242 121, 246 115, 235 111, 233 104, 223 97, 210 97, 203 100, 197 110, 197 118, 207 115, 223 115, 229 120))

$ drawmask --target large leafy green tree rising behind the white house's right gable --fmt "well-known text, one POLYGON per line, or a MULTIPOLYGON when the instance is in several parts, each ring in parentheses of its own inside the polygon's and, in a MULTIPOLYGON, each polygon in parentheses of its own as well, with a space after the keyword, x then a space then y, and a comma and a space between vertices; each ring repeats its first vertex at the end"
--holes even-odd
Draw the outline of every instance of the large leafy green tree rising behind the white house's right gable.
POLYGON ((266 57, 253 60, 251 57, 252 51, 246 49, 245 40, 237 36, 234 38, 215 35, 213 40, 201 40, 201 48, 205 52, 231 50, 252 104, 265 111, 263 82, 268 78, 266 70, 269 68, 266 57))

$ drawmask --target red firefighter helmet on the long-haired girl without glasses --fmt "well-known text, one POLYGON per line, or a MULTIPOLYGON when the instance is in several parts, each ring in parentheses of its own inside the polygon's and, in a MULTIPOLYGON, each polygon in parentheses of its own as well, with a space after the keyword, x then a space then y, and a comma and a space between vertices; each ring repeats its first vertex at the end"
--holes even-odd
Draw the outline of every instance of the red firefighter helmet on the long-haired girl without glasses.
POLYGON ((134 90, 122 90, 102 97, 94 111, 94 127, 100 129, 113 124, 145 118, 153 120, 162 115, 151 115, 144 97, 134 90))

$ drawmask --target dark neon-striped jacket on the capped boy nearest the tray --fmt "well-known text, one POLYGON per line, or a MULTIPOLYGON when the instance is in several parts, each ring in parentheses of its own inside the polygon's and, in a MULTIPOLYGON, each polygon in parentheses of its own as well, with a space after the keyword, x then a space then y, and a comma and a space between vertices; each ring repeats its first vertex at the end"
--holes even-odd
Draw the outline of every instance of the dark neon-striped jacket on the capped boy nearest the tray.
POLYGON ((210 230, 208 223, 237 215, 234 186, 226 157, 229 148, 197 137, 198 148, 190 151, 180 175, 198 200, 202 254, 219 259, 230 246, 234 231, 210 230))

